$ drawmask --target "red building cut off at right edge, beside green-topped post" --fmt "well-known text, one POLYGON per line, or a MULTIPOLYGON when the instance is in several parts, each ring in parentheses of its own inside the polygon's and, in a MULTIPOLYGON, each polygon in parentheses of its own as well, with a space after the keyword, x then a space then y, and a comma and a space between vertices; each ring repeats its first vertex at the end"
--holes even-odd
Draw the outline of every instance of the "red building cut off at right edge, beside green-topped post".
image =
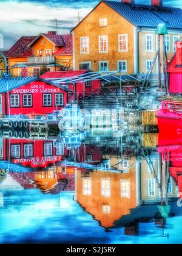
POLYGON ((169 92, 182 93, 182 41, 176 42, 177 52, 169 64, 169 92))

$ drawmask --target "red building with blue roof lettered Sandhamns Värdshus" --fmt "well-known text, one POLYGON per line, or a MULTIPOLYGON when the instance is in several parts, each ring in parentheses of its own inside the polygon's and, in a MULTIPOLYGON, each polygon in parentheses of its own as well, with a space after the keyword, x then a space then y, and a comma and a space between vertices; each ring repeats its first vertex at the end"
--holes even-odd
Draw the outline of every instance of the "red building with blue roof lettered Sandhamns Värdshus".
POLYGON ((0 115, 48 114, 67 104, 69 88, 30 77, 0 79, 0 115))

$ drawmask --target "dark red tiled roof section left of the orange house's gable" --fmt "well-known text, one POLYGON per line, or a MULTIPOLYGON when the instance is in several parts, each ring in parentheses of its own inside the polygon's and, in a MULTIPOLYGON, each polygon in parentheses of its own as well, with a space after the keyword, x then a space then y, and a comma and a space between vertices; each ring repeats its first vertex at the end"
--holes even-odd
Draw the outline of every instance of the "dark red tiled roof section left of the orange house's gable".
POLYGON ((32 48, 29 48, 29 44, 35 39, 35 37, 21 37, 12 48, 5 54, 8 57, 28 57, 32 55, 32 48))

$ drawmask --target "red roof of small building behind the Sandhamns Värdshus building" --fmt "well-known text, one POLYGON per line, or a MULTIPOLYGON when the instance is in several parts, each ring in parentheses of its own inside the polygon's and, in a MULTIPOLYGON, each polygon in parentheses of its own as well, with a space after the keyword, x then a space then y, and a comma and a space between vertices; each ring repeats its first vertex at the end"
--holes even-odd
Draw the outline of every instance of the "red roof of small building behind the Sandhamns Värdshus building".
POLYGON ((87 70, 47 72, 45 74, 42 74, 41 78, 43 79, 67 78, 67 77, 78 76, 84 73, 87 73, 87 70))

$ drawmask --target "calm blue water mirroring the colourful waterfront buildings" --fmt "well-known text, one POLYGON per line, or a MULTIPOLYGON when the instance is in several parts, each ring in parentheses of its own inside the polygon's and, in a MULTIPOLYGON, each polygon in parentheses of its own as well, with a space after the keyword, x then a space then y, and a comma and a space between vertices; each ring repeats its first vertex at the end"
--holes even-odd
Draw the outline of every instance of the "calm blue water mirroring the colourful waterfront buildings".
POLYGON ((178 242, 180 141, 107 130, 1 138, 1 243, 178 242))

